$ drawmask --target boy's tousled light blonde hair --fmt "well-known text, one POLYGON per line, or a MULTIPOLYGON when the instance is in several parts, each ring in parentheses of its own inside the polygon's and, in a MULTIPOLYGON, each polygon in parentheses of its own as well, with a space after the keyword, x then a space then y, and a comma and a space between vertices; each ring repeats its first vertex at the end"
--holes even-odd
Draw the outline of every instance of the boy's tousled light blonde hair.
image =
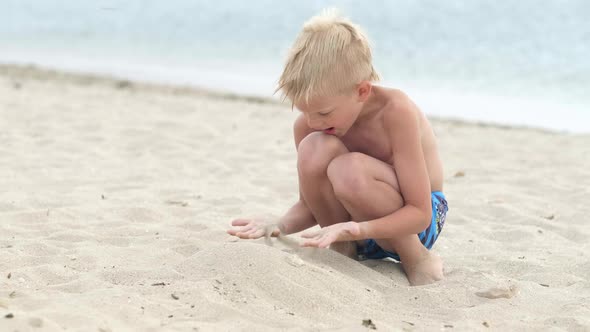
POLYGON ((363 80, 379 80, 367 37, 337 10, 327 9, 303 25, 275 92, 293 104, 309 103, 316 96, 347 93, 363 80))

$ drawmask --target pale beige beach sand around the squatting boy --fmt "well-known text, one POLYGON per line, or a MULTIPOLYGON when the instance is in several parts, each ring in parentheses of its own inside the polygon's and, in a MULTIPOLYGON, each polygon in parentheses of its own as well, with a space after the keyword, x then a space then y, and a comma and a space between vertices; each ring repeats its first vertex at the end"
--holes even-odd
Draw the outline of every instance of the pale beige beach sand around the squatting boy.
POLYGON ((0 66, 0 330, 590 330, 590 136, 433 120, 446 279, 409 287, 393 262, 225 233, 297 198, 295 116, 0 66))

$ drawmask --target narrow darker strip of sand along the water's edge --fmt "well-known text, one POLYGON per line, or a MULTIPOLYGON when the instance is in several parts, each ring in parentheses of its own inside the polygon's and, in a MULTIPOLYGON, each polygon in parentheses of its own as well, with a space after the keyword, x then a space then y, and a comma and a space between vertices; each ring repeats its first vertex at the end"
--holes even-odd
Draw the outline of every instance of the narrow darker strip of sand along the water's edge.
MULTIPOLYGON (((253 94, 241 94, 230 91, 215 90, 194 86, 191 84, 174 84, 170 82, 158 82, 155 80, 130 79, 123 75, 91 73, 84 71, 73 71, 64 69, 55 69, 35 64, 14 64, 0 63, 0 75, 11 78, 36 79, 36 80, 59 80, 62 82, 73 82, 81 85, 102 84, 115 86, 118 89, 142 89, 142 90, 159 90, 172 94, 192 95, 206 98, 227 99, 236 101, 246 101, 258 104, 270 105, 287 105, 278 98, 271 96, 264 97, 253 94)), ((429 119, 438 122, 455 123, 464 125, 474 125, 478 127, 500 128, 505 130, 527 130, 542 133, 564 134, 572 136, 589 136, 590 132, 572 132, 567 130, 549 129, 520 124, 504 124, 498 122, 489 122, 481 120, 462 119, 453 116, 439 116, 427 114, 429 119)))

